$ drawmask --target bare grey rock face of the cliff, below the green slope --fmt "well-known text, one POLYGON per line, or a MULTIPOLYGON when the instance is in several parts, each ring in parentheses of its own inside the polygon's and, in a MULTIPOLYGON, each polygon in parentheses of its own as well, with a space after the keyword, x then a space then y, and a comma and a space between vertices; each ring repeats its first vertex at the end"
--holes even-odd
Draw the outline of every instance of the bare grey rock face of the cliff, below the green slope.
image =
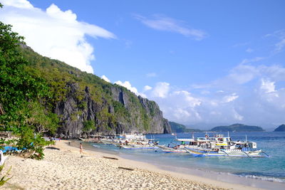
POLYGON ((88 86, 80 90, 78 83, 66 86, 66 97, 56 103, 55 112, 61 118, 60 137, 80 137, 84 121, 91 120, 96 127, 90 134, 120 134, 124 132, 170 133, 169 122, 163 118, 157 103, 137 97, 118 85, 111 86, 111 101, 103 97, 93 100, 88 86), (83 95, 80 100, 78 93, 83 95))

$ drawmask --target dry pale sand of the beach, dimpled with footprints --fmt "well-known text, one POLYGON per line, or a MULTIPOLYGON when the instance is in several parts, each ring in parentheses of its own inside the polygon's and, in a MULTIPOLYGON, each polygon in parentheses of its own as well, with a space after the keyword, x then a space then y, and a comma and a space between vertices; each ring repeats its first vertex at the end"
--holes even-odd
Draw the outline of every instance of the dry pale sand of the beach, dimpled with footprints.
POLYGON ((9 156, 1 175, 11 167, 12 178, 0 189, 254 189, 166 171, 113 154, 87 149, 80 154, 79 146, 69 146, 67 140, 56 142, 53 148, 58 149, 44 150, 43 160, 9 156))

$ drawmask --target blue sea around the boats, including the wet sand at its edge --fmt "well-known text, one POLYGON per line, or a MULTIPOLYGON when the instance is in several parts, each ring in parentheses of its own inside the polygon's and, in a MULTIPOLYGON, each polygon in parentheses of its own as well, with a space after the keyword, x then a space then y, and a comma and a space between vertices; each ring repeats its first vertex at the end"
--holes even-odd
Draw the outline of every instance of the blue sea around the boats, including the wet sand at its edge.
MULTIPOLYGON (((217 133, 209 133, 212 137, 217 133)), ((228 132, 219 132, 227 137, 228 132)), ((177 138, 204 137, 204 132, 177 133, 177 138)), ((101 152, 117 154, 126 159, 154 164, 161 169, 184 174, 242 183, 263 189, 285 189, 285 132, 229 132, 232 140, 257 142, 257 149, 269 157, 192 157, 188 153, 165 153, 160 149, 119 149, 113 145, 89 144, 101 152)), ((172 134, 147 134, 159 144, 179 144, 172 134)))

